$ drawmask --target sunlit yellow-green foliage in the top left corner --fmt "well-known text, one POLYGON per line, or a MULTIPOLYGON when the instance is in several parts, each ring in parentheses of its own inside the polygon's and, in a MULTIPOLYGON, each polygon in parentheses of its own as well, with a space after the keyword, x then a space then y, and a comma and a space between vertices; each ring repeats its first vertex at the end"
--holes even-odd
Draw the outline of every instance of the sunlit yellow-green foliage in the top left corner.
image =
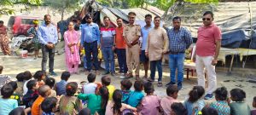
MULTIPOLYGON (((3 14, 14 14, 15 9, 11 7, 19 3, 25 6, 25 9, 28 9, 31 5, 40 5, 43 3, 42 0, 0 0, 0 16, 3 14)), ((24 10, 24 9, 21 9, 24 10)))

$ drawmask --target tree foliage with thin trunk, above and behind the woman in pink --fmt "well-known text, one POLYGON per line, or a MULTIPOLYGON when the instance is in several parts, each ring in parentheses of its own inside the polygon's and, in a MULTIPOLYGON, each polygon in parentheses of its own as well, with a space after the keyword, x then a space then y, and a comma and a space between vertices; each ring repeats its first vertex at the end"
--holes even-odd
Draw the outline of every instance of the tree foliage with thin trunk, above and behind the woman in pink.
POLYGON ((52 9, 56 9, 61 13, 61 20, 63 20, 64 13, 73 10, 78 10, 80 0, 44 0, 44 3, 49 5, 52 9))

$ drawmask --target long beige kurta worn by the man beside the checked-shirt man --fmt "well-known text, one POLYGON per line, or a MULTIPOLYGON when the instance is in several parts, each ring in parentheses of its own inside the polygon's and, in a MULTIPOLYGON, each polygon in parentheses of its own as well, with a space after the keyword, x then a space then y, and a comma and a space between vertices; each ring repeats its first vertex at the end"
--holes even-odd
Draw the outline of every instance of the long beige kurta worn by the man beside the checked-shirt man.
POLYGON ((149 60, 161 60, 163 53, 168 50, 169 39, 166 30, 162 27, 152 28, 148 33, 148 41, 145 52, 148 52, 149 60))

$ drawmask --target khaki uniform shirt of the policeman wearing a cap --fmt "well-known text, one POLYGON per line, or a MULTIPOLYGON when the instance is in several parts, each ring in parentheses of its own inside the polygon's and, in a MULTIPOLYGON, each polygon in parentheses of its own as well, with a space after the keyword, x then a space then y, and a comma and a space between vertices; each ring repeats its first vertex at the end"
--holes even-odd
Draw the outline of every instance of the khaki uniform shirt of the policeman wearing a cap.
POLYGON ((137 36, 141 36, 141 26, 139 25, 126 25, 124 27, 123 36, 127 38, 128 42, 136 39, 137 36))

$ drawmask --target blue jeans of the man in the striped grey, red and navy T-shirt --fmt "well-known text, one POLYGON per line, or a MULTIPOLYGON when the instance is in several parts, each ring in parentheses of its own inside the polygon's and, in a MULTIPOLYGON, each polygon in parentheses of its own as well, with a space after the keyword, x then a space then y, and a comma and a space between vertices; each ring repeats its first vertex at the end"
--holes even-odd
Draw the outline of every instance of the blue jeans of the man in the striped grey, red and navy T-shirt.
POLYGON ((105 70, 107 72, 114 72, 114 60, 113 60, 113 50, 112 47, 103 47, 102 54, 105 61, 105 70), (109 64, 110 64, 110 71, 109 71, 109 64))

